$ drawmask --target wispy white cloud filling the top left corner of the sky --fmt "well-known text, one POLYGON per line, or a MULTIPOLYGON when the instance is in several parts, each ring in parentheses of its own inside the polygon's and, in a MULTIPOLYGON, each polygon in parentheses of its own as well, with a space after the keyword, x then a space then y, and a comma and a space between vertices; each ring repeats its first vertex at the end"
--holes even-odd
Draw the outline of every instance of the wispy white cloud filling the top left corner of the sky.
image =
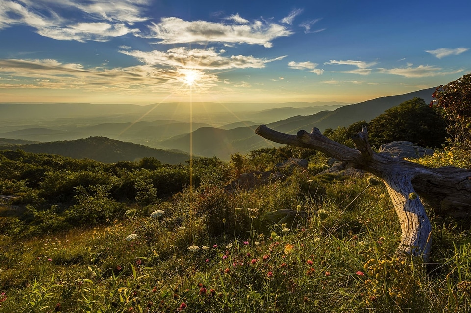
POLYGON ((148 0, 1 0, 0 29, 26 25, 57 40, 106 41, 137 33, 139 29, 131 26, 147 20, 142 15, 147 4, 148 0))

